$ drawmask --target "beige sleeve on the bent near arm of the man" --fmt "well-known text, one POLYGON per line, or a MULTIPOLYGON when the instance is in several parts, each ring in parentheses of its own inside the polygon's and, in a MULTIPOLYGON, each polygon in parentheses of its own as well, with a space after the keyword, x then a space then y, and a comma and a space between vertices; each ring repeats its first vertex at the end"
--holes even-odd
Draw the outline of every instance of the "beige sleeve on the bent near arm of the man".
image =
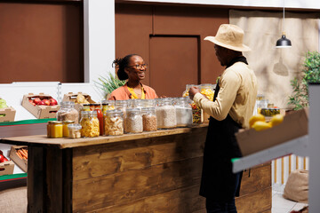
POLYGON ((211 115, 218 121, 224 120, 236 99, 236 92, 241 83, 241 78, 234 72, 228 72, 220 77, 220 91, 217 99, 213 102, 206 99, 201 93, 196 93, 194 101, 206 114, 211 115))

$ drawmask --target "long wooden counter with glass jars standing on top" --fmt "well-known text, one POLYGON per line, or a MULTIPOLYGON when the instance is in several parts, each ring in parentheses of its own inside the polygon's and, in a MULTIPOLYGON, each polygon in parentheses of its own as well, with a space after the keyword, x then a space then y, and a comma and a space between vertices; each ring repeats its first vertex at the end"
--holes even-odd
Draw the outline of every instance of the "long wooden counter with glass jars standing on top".
MULTIPOLYGON (((205 212, 198 192, 206 131, 204 124, 118 137, 29 136, 2 143, 28 145, 28 212, 188 213, 205 212)), ((239 212, 249 212, 241 209, 251 202, 259 211, 250 212, 270 212, 268 201, 255 204, 271 199, 270 165, 260 168, 251 177, 244 173, 242 191, 252 201, 244 205, 237 199, 239 212), (266 177, 254 184, 260 168, 266 177)))

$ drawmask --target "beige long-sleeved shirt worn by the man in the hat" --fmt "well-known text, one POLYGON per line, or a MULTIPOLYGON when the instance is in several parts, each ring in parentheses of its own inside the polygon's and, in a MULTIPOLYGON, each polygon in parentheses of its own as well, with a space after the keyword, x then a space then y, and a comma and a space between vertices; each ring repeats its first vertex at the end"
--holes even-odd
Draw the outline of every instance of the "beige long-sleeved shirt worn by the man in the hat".
POLYGON ((214 102, 199 92, 193 100, 216 120, 222 121, 230 114, 243 128, 249 128, 257 97, 257 78, 252 69, 243 62, 236 62, 223 72, 219 84, 219 95, 214 102))

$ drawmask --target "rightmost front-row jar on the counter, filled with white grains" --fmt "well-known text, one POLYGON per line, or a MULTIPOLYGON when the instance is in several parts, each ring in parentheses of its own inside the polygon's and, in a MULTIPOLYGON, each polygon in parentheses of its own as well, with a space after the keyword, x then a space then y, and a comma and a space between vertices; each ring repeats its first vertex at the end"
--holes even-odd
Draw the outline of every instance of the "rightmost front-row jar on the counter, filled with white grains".
POLYGON ((176 99, 175 104, 177 127, 188 127, 192 125, 192 108, 188 99, 176 99))

